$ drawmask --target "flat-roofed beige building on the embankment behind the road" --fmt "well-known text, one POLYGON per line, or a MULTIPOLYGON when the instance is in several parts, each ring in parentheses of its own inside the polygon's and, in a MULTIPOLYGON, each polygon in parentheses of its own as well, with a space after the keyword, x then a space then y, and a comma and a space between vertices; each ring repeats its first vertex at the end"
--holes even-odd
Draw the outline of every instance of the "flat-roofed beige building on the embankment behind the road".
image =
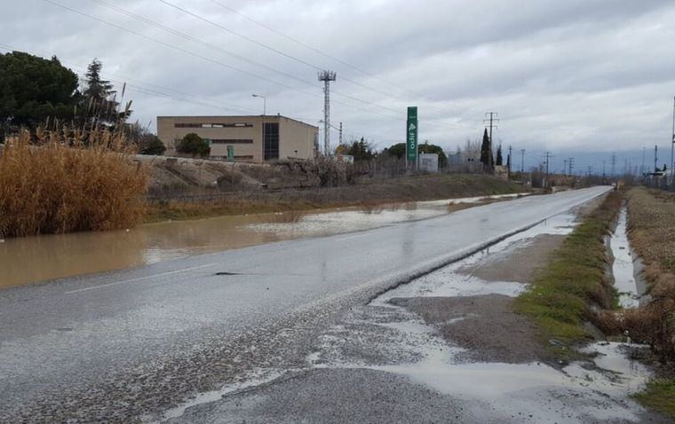
POLYGON ((179 141, 192 132, 207 140, 213 159, 262 162, 314 158, 319 128, 281 115, 157 117, 166 154, 175 154, 179 141))

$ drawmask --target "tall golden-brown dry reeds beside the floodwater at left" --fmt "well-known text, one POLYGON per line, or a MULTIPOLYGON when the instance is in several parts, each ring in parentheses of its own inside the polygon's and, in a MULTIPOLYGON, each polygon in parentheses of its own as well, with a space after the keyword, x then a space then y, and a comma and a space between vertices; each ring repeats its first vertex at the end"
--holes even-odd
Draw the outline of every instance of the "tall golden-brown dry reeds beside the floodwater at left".
POLYGON ((0 236, 112 230, 141 221, 148 170, 123 131, 22 132, 0 153, 0 236), (86 143, 83 140, 86 139, 86 143))

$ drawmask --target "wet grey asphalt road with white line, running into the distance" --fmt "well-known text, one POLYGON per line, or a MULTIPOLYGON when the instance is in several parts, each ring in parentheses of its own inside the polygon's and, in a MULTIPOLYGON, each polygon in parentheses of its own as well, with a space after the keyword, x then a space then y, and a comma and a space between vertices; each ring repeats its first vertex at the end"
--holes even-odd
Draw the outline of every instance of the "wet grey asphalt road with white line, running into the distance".
POLYGON ((0 291, 0 421, 149 420, 300 365, 338 311, 608 190, 0 291))

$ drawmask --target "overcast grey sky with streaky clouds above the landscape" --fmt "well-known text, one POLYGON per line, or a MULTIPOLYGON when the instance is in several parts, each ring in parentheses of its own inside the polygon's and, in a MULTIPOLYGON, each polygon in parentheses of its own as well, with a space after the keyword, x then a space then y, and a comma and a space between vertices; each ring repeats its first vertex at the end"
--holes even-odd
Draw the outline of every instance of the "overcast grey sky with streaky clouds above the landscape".
POLYGON ((261 114, 253 93, 316 125, 326 68, 347 139, 401 142, 418 106, 420 139, 450 149, 496 111, 496 141, 535 160, 670 151, 673 22, 667 0, 2 0, 0 49, 79 74, 100 59, 153 130, 157 115, 261 114))

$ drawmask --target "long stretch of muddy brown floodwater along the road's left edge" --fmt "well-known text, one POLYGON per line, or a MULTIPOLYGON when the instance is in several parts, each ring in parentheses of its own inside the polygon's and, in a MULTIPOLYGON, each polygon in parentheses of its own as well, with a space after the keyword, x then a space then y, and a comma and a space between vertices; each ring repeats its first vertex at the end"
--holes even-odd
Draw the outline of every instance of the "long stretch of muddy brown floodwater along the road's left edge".
POLYGON ((423 201, 375 209, 222 216, 146 224, 127 231, 6 239, 0 243, 0 288, 121 270, 273 241, 366 230, 441 216, 448 213, 450 203, 473 203, 481 199, 485 198, 423 201))

